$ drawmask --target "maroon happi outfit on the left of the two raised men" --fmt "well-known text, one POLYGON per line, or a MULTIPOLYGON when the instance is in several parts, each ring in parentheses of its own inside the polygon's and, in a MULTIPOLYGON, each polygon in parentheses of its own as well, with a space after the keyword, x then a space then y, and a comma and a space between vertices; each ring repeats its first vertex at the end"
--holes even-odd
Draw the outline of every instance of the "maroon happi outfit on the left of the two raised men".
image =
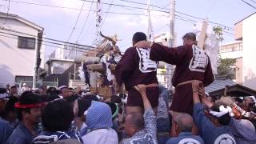
MULTIPOLYGON (((150 60, 149 49, 127 49, 114 73, 118 85, 122 86, 124 83, 128 91, 127 106, 143 106, 142 97, 134 86, 158 83, 157 62, 150 60)), ((158 106, 158 93, 158 87, 146 88, 146 95, 153 107, 158 106)))

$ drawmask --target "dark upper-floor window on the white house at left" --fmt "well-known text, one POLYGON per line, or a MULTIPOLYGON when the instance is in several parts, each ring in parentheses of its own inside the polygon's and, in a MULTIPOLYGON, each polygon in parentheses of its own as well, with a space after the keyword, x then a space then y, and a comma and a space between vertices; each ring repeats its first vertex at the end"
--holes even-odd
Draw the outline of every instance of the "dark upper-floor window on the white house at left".
POLYGON ((18 48, 35 49, 35 38, 18 37, 18 48))

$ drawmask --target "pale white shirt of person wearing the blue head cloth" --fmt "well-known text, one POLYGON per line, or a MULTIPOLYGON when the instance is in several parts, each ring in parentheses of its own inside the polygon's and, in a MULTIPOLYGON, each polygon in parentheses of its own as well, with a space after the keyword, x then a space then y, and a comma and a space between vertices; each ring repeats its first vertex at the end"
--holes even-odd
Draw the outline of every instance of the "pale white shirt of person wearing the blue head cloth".
POLYGON ((118 134, 111 128, 93 130, 82 136, 84 144, 118 144, 118 134))

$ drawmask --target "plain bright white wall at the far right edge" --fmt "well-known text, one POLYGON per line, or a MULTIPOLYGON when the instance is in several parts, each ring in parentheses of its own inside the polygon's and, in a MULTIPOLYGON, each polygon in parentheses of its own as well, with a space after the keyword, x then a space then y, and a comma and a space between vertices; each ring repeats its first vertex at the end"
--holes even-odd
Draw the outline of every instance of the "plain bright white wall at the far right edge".
POLYGON ((243 85, 256 90, 256 14, 242 22, 243 85))

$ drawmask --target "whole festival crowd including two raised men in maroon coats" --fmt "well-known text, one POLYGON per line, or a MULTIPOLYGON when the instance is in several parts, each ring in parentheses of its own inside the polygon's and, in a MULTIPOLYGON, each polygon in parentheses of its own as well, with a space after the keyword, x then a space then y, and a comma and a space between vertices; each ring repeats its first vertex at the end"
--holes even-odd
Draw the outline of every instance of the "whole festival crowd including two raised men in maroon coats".
MULTIPOLYGON (((25 88, 20 95, 16 86, 1 88, 0 143, 255 144, 255 98, 215 99, 206 94, 204 86, 213 81, 210 62, 205 59, 200 61, 202 67, 193 66, 190 59, 197 50, 192 46, 194 34, 186 34, 184 39, 192 41, 190 47, 184 45, 178 48, 181 51, 163 48, 166 52, 162 52, 162 46, 142 42, 144 34, 134 34, 135 47, 151 50, 129 49, 118 63, 117 81, 125 83, 128 95, 105 98, 79 86, 25 88), (134 54, 142 55, 137 58, 134 54), (178 66, 175 90, 158 85, 151 57, 178 66), (183 57, 190 57, 183 61, 190 66, 180 66, 178 61, 183 57), (130 66, 126 62, 131 62, 130 66), (142 63, 136 68, 132 62, 142 63), (149 65, 146 68, 145 63, 149 65)), ((204 54, 198 57, 207 58, 204 54)))

